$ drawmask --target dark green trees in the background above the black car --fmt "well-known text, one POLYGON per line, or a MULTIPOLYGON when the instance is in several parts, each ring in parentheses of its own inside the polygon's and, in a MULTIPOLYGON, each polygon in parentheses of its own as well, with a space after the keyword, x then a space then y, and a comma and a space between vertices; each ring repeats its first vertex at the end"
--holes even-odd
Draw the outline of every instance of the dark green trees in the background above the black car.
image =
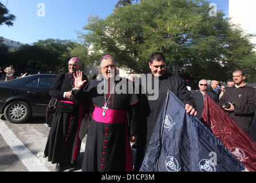
POLYGON ((22 46, 20 49, 9 53, 9 63, 13 64, 15 70, 24 72, 27 68, 33 69, 30 74, 52 71, 60 73, 68 70, 68 61, 76 55, 71 54, 71 50, 78 43, 60 40, 46 39, 33 43, 33 45, 22 46))

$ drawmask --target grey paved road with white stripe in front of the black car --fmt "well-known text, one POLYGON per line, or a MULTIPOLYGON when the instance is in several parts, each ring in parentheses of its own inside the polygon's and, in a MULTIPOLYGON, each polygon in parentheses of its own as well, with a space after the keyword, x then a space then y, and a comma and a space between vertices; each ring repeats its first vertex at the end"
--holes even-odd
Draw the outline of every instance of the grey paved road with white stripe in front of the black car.
MULTIPOLYGON (((24 124, 0 120, 0 172, 55 172, 55 165, 43 158, 50 128, 45 118, 31 118, 24 124)), ((82 140, 78 162, 82 165, 85 140, 82 140)), ((64 172, 80 172, 67 165, 64 172)))

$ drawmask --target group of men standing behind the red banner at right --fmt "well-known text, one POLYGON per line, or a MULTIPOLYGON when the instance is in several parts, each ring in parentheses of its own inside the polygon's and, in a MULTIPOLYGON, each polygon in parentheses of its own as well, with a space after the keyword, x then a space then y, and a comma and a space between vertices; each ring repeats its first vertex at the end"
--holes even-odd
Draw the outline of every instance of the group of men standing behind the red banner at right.
MULTIPOLYGON (((252 124, 256 91, 246 84, 245 79, 246 75, 242 70, 235 70, 233 79, 227 80, 227 86, 220 87, 219 82, 215 80, 208 86, 205 79, 200 80, 198 92, 192 93, 198 112, 197 117, 200 119, 202 116, 203 95, 207 93, 240 128, 254 138, 255 129, 252 128, 252 124)), ((254 141, 256 141, 255 138, 254 141)))

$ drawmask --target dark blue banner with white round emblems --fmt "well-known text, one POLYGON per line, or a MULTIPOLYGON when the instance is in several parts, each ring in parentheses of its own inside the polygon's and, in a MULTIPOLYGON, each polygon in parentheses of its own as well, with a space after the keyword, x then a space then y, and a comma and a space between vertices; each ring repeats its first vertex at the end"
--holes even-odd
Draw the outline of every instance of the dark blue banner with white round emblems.
POLYGON ((245 166, 169 91, 141 172, 227 172, 245 166))

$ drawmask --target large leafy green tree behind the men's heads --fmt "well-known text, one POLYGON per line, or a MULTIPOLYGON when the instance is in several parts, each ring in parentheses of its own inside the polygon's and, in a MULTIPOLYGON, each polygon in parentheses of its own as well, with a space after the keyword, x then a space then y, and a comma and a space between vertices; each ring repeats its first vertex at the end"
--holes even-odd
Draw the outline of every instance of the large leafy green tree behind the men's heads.
POLYGON ((147 72, 149 55, 159 51, 183 78, 226 81, 242 68, 255 81, 249 36, 221 11, 210 17, 210 9, 203 0, 144 0, 118 6, 106 19, 90 17, 84 27, 89 32, 80 38, 91 45, 91 61, 112 54, 119 65, 137 73, 147 72))

